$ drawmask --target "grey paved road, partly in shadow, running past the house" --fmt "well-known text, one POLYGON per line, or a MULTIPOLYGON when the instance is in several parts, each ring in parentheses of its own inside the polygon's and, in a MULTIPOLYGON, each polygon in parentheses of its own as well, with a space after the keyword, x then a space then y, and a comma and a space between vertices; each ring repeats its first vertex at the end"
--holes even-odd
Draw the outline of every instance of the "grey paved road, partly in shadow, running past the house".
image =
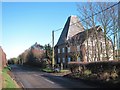
POLYGON ((45 73, 23 66, 11 66, 15 80, 23 88, 94 88, 82 81, 55 76, 50 73, 45 73))

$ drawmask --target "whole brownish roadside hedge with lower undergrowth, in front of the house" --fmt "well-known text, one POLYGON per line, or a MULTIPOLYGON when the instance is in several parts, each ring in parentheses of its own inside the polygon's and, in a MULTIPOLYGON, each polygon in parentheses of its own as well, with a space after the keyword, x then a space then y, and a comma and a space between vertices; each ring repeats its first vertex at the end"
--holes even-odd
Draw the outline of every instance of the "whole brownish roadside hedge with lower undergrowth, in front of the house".
POLYGON ((70 62, 71 77, 120 84, 120 61, 70 62))

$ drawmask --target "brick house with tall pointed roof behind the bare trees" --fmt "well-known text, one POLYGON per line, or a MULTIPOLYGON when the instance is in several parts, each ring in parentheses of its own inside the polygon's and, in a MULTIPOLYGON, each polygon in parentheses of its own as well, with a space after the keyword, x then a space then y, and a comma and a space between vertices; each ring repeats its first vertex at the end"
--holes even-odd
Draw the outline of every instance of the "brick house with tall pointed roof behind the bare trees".
MULTIPOLYGON (((113 45, 108 38, 107 44, 109 48, 108 58, 113 60, 113 45)), ((77 16, 70 16, 55 46, 55 60, 63 68, 67 68, 70 61, 95 62, 107 60, 104 33, 101 27, 96 26, 85 30, 77 16)))

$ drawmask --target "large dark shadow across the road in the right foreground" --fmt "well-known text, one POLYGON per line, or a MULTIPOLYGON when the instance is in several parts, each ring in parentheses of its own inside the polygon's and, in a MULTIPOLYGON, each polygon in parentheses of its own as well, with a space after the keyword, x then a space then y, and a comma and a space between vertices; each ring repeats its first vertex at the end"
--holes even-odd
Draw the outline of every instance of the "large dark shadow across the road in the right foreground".
POLYGON ((82 81, 66 78, 63 76, 54 76, 49 74, 44 74, 42 77, 47 78, 50 81, 53 81, 59 84, 62 87, 74 89, 74 88, 95 88, 95 86, 90 86, 82 81))

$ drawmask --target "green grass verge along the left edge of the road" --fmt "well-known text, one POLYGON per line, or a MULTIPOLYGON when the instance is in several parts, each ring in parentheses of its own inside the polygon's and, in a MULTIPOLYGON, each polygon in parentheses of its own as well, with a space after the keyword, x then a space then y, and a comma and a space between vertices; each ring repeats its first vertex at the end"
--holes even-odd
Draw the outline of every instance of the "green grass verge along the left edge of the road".
POLYGON ((8 75, 9 69, 8 68, 4 68, 2 70, 2 75, 3 75, 3 85, 4 88, 16 88, 16 85, 14 83, 14 81, 12 80, 12 78, 8 75))

